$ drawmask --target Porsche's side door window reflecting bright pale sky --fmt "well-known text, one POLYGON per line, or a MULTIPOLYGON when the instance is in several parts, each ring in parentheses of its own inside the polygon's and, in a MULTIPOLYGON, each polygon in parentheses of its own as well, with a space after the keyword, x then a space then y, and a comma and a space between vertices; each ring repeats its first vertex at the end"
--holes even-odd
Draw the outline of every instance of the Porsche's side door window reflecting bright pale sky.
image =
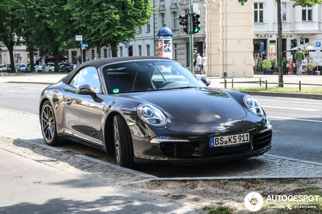
POLYGON ((80 70, 75 87, 77 88, 84 84, 89 84, 93 87, 94 92, 99 93, 99 75, 95 67, 85 67, 80 70))

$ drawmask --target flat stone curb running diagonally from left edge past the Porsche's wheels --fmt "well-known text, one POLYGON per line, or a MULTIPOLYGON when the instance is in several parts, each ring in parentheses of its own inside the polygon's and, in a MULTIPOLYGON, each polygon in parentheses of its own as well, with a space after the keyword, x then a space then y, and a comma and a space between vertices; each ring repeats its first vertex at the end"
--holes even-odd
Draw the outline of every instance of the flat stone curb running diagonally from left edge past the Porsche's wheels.
MULTIPOLYGON (((2 134, 1 136, 5 137, 5 138, 16 139, 16 140, 22 141, 24 143, 33 144, 35 146, 39 146, 39 147, 43 147, 43 148, 48 148, 48 149, 51 149, 51 150, 56 151, 56 152, 63 152, 63 151, 65 151, 63 149, 56 148, 56 147, 51 147, 51 146, 48 146, 46 144, 39 144, 39 143, 32 142, 30 140, 25 140, 25 139, 21 139, 21 138, 14 138, 13 136, 10 136, 10 135, 3 135, 2 134)), ((17 153, 15 153, 15 154, 17 154, 17 153)), ((144 178, 158 178, 158 177, 156 177, 154 175, 150 175, 150 174, 146 174, 146 173, 143 173, 143 172, 139 172, 139 171, 136 171, 136 170, 133 170, 133 169, 128 169, 128 168, 125 168, 125 167, 122 167, 122 166, 114 165, 114 164, 111 164, 109 162, 101 161, 101 160, 98 160, 96 158, 88 157, 88 156, 85 156, 85 155, 73 155, 73 156, 81 157, 83 159, 86 159, 86 160, 89 160, 89 161, 92 161, 92 162, 95 162, 95 163, 98 163, 98 164, 101 164, 101 165, 109 166, 111 168, 118 169, 118 170, 121 170, 121 171, 124 171, 124 172, 128 172, 128 173, 131 173, 131 174, 136 174, 136 175, 139 175, 139 176, 144 177, 144 178)))

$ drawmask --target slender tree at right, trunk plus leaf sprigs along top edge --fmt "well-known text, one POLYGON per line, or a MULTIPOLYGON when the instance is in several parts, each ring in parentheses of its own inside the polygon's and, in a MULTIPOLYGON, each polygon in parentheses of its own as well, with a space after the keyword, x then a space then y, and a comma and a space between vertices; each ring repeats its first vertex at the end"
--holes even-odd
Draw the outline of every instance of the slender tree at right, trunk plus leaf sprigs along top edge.
MULTIPOLYGON (((293 4, 293 8, 296 6, 302 6, 305 7, 306 5, 316 5, 316 4, 321 4, 322 0, 292 0, 295 2, 295 4, 293 4)), ((241 3, 242 5, 245 4, 245 2, 247 2, 247 0, 238 0, 239 3, 241 3)), ((282 15, 281 15, 281 1, 280 0, 276 0, 277 2, 277 34, 278 34, 278 46, 277 46, 277 50, 278 50, 278 58, 282 59, 283 58, 283 49, 282 49, 282 15)), ((282 60, 278 60, 278 67, 279 67, 279 83, 283 83, 283 66, 282 66, 283 61, 282 60)), ((279 87, 283 87, 283 84, 279 84, 279 87)))

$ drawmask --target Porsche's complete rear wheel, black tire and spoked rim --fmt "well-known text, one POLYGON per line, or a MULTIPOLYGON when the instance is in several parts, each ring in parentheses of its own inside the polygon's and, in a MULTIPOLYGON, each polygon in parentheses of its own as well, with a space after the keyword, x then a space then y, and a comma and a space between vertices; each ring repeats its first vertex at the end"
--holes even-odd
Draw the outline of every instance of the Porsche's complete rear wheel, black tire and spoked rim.
POLYGON ((60 145, 61 142, 57 136, 57 126, 54 110, 52 104, 49 101, 43 103, 41 111, 41 128, 43 133, 43 139, 49 146, 60 145))

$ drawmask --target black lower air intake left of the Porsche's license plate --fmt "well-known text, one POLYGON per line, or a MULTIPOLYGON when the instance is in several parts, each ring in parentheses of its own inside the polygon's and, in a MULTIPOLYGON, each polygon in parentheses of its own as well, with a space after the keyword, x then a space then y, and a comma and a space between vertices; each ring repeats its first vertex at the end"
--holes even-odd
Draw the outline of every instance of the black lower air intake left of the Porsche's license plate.
POLYGON ((198 143, 161 143, 161 150, 167 157, 187 158, 191 157, 197 147, 198 143))

